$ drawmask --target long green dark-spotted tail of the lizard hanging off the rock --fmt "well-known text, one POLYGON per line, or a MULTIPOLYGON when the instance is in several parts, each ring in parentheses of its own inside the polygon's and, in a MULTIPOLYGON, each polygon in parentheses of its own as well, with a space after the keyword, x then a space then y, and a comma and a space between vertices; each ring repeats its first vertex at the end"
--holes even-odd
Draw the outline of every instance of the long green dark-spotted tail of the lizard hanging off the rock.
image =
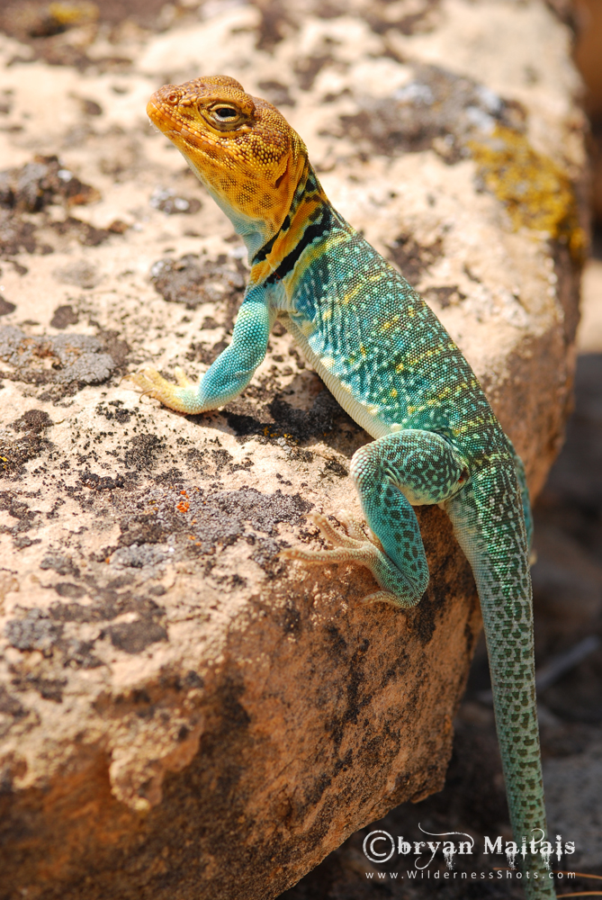
POLYGON ((548 900, 556 894, 541 852, 547 833, 535 702, 532 590, 514 464, 504 460, 475 473, 445 509, 471 563, 481 599, 499 749, 518 850, 516 865, 523 870, 528 900, 548 900), (525 856, 521 852, 524 840, 525 856), (535 853, 534 840, 539 840, 533 845, 535 853))

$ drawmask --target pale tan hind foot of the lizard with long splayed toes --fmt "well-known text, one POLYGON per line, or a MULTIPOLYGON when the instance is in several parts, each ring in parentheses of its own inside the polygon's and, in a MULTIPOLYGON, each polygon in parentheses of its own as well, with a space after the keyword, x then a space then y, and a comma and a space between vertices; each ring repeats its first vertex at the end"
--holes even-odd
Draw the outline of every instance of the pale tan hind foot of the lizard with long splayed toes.
MULTIPOLYGON (((362 523, 349 516, 346 512, 337 512, 337 518, 346 529, 346 534, 333 527, 326 516, 314 513, 308 516, 311 522, 319 528, 320 534, 331 544, 334 550, 305 550, 301 547, 289 547, 279 554, 284 559, 299 560, 310 565, 324 565, 328 563, 359 563, 373 573, 376 581, 381 583, 383 569, 394 568, 391 561, 382 551, 379 539, 370 532, 366 536, 362 523)), ((362 600, 365 604, 389 603, 391 606, 406 606, 397 594, 389 590, 377 590, 368 594, 362 600)))

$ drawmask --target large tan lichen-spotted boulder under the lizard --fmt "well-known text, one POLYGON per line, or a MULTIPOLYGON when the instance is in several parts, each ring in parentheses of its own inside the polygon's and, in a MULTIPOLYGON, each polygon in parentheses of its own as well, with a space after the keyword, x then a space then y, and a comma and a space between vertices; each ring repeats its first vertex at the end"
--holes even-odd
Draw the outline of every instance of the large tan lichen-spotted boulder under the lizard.
POLYGON ((279 561, 310 509, 357 510, 368 439, 280 330, 220 413, 121 383, 202 372, 244 284, 146 99, 225 72, 283 107, 537 491, 584 247, 570 34, 539 0, 188 4, 161 33, 81 5, 10 7, 0 40, 0 896, 273 897, 440 788, 480 617, 438 509, 407 613, 364 609, 363 570, 279 561))

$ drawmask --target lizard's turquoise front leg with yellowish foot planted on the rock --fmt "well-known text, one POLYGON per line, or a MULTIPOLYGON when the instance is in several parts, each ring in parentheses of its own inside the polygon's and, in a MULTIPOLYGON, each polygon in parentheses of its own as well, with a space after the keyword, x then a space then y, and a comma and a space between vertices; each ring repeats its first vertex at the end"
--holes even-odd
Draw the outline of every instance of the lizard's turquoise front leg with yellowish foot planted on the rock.
POLYGON ((273 319, 274 312, 264 289, 256 287, 247 294, 238 311, 229 347, 211 364, 200 383, 189 381, 179 366, 175 368, 177 384, 166 381, 156 369, 150 368, 128 377, 143 393, 155 397, 170 410, 190 414, 216 410, 247 387, 265 357, 273 319))

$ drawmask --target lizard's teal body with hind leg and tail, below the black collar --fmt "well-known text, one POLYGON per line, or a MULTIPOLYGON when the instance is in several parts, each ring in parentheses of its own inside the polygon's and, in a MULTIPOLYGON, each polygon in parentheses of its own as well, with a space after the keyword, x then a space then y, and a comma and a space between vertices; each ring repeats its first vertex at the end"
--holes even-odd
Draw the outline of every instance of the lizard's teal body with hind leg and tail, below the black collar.
POLYGON ((481 599, 515 841, 519 851, 523 837, 536 842, 525 863, 526 896, 553 897, 539 852, 545 812, 523 465, 427 304, 336 212, 325 218, 328 232, 314 239, 308 263, 284 278, 274 301, 337 400, 376 438, 355 454, 351 474, 384 553, 357 535, 335 551, 288 555, 307 562, 367 559, 382 588, 372 599, 409 607, 428 582, 412 505, 445 509, 481 599))

